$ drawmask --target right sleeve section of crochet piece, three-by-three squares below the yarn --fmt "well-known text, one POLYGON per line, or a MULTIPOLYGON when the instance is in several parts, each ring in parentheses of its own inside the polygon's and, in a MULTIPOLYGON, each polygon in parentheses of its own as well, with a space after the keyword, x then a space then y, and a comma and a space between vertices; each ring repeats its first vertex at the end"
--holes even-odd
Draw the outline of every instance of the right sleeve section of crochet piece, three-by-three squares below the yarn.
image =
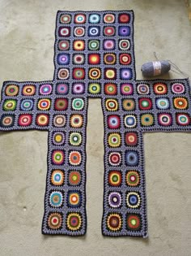
POLYGON ((137 118, 142 132, 190 132, 188 79, 137 80, 137 118))

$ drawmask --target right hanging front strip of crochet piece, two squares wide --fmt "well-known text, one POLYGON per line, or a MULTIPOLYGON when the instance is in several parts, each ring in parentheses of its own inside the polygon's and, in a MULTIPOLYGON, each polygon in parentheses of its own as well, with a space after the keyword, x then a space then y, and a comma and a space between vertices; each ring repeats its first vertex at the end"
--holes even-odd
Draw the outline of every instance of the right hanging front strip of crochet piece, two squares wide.
MULTIPOLYGON (((123 101, 133 101, 124 98, 123 101)), ((104 114, 104 236, 148 236, 142 131, 121 111, 120 98, 102 99, 104 114), (113 107, 114 106, 114 107, 113 107)), ((133 106, 134 109, 134 106, 133 106)))

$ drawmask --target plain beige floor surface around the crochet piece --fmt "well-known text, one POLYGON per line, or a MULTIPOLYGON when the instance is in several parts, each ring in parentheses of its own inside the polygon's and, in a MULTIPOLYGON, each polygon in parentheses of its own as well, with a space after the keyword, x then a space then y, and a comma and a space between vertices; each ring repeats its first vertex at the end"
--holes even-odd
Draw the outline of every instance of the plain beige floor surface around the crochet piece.
MULTIPOLYGON (((184 1, 0 1, 0 85, 3 80, 51 80, 57 10, 135 13, 137 78, 142 63, 171 59, 191 76, 191 31, 184 1)), ((179 78, 170 73, 164 78, 179 78)), ((101 235, 103 118, 89 100, 87 126, 87 235, 41 235, 47 132, 0 132, 1 255, 190 255, 191 134, 145 134, 149 238, 101 235), (93 116, 93 118, 92 118, 93 116)))

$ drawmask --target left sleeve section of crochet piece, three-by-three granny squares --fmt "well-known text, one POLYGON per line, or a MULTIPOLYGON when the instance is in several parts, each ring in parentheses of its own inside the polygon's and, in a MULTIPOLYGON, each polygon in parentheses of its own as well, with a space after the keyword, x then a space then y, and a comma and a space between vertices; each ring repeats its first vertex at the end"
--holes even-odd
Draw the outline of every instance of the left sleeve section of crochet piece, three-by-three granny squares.
POLYGON ((48 130, 54 103, 52 95, 53 81, 4 82, 0 130, 48 130))

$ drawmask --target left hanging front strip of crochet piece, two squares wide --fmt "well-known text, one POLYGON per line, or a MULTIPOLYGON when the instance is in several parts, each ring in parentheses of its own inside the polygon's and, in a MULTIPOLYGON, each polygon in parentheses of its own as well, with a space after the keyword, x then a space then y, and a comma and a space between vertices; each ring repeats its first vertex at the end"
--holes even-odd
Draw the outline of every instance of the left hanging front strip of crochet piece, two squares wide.
POLYGON ((82 236, 87 229, 87 98, 68 95, 66 105, 59 100, 49 129, 42 233, 82 236))

